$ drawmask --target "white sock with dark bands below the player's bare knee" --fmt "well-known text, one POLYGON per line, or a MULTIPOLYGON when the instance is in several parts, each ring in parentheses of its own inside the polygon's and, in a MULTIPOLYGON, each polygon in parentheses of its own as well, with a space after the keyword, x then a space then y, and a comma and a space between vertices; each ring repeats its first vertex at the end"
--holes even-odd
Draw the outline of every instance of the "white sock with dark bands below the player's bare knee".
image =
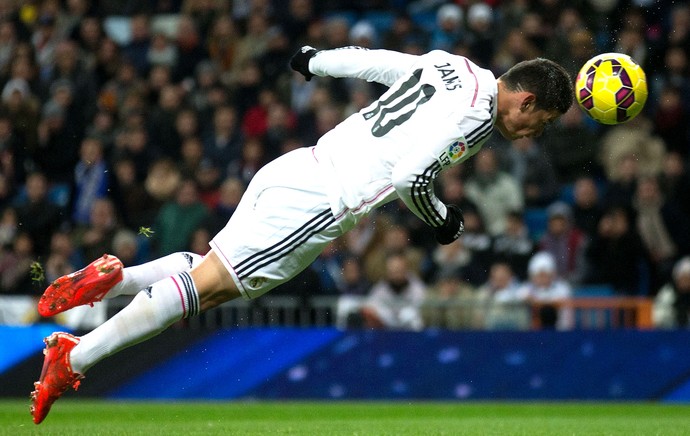
POLYGON ((84 374, 100 360, 161 333, 182 318, 199 314, 199 294, 183 272, 139 292, 115 316, 81 337, 70 353, 74 372, 84 374))

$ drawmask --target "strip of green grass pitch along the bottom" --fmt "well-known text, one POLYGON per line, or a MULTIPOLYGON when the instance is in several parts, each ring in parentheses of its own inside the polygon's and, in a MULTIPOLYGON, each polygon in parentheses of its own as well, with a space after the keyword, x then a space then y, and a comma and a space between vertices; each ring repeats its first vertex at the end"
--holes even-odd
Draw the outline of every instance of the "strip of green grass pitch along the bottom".
POLYGON ((112 402, 63 399, 39 426, 0 401, 0 435, 687 435, 690 406, 530 402, 112 402))

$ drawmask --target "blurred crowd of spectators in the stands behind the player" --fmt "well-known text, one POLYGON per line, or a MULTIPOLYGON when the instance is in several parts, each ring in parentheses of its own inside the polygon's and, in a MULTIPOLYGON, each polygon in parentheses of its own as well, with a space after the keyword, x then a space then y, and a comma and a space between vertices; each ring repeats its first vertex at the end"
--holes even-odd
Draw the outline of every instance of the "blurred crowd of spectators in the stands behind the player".
MULTIPOLYGON (((304 44, 442 49, 496 76, 541 56, 573 79, 621 52, 649 99, 620 126, 574 105, 541 137, 495 135, 445 172, 457 242, 391 203, 272 293, 354 297, 341 322, 418 329, 422 303, 596 287, 657 298, 658 325, 687 325, 690 6, 663 0, 0 0, 0 295, 38 296, 106 252, 204 254, 262 165, 384 90, 305 81, 288 67, 304 44)), ((443 323, 480 322, 460 318, 443 323)), ((492 319, 510 321, 496 305, 492 319)), ((569 323, 548 304, 539 319, 569 323)))

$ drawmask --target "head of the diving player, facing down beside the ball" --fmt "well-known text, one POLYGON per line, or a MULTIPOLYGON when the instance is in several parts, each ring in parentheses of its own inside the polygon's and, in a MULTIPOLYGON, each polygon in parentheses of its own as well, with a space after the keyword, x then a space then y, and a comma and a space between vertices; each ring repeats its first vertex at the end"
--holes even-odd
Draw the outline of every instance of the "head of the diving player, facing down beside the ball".
POLYGON ((539 136, 573 104, 572 78, 548 59, 520 62, 498 82, 496 127, 508 139, 539 136))

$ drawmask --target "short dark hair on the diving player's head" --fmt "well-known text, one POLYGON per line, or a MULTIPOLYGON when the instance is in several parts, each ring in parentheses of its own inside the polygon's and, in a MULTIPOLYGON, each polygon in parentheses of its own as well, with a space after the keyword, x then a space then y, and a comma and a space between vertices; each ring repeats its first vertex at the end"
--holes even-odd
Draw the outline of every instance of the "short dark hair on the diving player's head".
POLYGON ((500 79, 508 91, 534 94, 537 109, 556 109, 564 114, 573 104, 573 79, 565 68, 554 61, 544 58, 522 61, 506 71, 500 79))

